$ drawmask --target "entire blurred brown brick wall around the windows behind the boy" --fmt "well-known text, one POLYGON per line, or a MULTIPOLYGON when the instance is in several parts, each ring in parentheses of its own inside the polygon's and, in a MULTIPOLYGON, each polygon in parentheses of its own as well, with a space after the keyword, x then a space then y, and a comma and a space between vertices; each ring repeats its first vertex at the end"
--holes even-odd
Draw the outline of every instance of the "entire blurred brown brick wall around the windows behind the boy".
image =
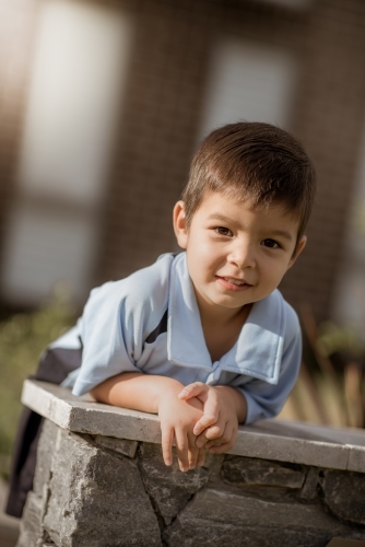
MULTIPOLYGON (((126 276, 176 249, 172 208, 187 179, 199 131, 210 53, 220 35, 242 36, 294 49, 301 59, 292 132, 314 159, 319 190, 307 249, 282 290, 296 307, 309 302, 318 318, 326 317, 342 256, 364 118, 365 4, 317 0, 306 11, 248 0, 108 3, 130 12, 136 33, 106 181, 95 283, 126 276)), ((31 44, 37 2, 27 5, 22 16, 27 18, 30 37, 23 39, 31 44)), ((15 85, 10 98, 1 95, 5 124, 1 121, 0 138, 5 146, 0 158, 0 225, 12 194, 28 56, 24 48, 19 61, 24 63, 23 84, 15 85)))

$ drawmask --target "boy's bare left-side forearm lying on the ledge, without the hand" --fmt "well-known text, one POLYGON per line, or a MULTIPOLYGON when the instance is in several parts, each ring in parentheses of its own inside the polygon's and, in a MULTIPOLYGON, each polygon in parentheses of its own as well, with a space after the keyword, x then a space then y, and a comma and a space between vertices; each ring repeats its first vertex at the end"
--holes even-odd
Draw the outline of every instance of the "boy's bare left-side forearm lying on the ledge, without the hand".
POLYGON ((99 403, 157 414, 162 397, 167 394, 177 396, 182 387, 180 382, 170 377, 123 372, 97 385, 91 394, 99 403))

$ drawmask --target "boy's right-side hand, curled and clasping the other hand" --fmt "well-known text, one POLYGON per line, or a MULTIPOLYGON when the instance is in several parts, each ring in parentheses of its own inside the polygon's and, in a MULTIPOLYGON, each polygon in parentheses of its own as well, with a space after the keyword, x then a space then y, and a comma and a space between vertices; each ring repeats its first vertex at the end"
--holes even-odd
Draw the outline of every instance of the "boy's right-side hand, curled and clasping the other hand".
POLYGON ((214 454, 231 450, 236 441, 238 422, 246 418, 245 397, 234 387, 209 386, 201 382, 195 382, 179 393, 182 400, 191 397, 198 398, 204 408, 192 430, 198 437, 196 445, 214 454))

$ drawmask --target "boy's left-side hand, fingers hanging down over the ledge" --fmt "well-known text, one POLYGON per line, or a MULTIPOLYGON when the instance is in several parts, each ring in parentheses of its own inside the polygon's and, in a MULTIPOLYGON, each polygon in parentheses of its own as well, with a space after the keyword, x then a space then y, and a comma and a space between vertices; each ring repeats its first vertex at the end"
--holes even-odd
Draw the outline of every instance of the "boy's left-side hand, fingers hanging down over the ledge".
POLYGON ((158 401, 158 417, 162 431, 162 453, 166 465, 173 463, 173 443, 181 472, 202 466, 205 449, 196 445, 192 432, 195 424, 203 416, 203 404, 191 396, 189 400, 178 398, 178 392, 167 392, 158 401))

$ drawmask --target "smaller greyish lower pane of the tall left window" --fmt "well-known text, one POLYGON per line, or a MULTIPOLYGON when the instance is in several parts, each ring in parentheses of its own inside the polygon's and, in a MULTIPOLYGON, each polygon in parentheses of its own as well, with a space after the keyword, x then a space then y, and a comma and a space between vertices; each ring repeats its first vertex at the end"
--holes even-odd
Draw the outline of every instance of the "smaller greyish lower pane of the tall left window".
POLYGON ((34 304, 60 279, 79 299, 90 290, 95 228, 92 219, 74 213, 20 205, 13 211, 4 249, 2 293, 8 301, 34 304))

